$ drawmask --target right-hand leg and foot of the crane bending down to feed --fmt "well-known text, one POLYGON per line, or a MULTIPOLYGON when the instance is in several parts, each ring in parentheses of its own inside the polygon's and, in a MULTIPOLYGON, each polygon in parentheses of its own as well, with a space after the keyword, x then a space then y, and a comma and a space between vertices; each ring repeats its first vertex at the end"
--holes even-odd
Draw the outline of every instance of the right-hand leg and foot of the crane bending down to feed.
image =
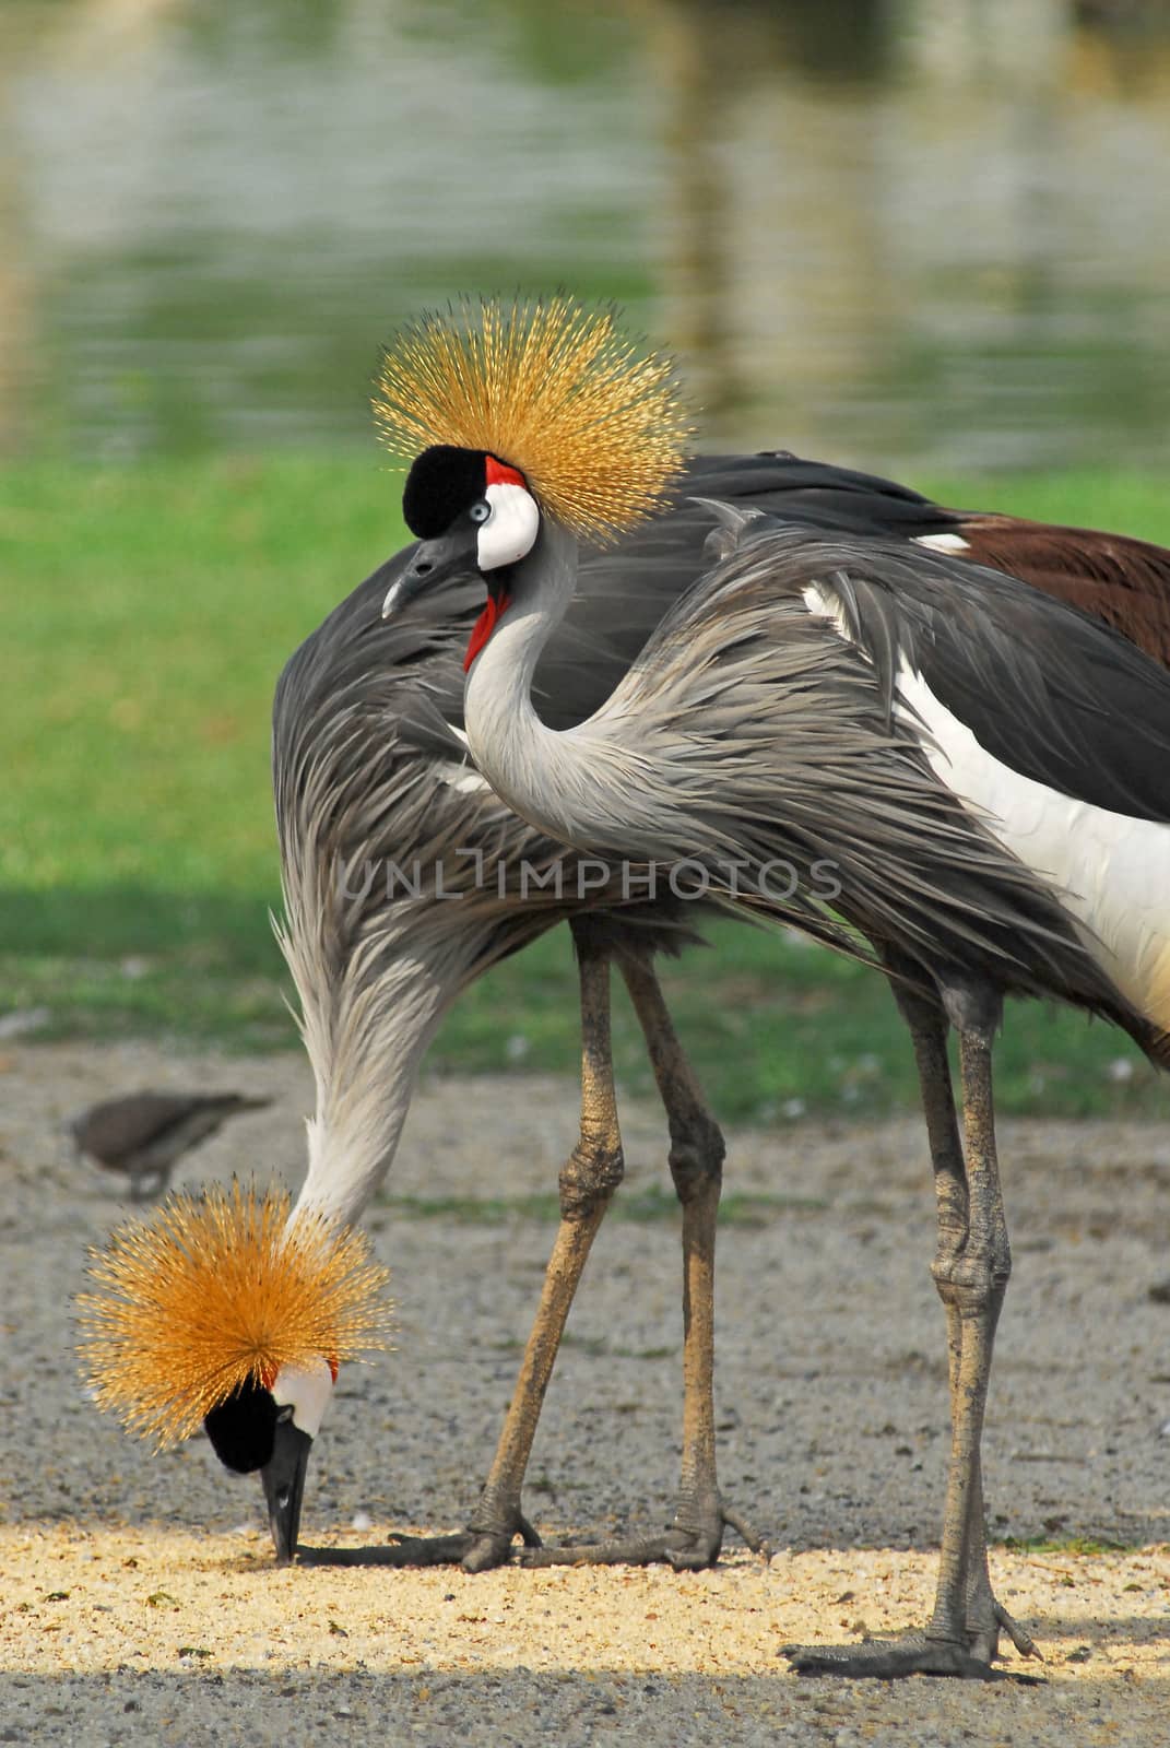
POLYGON ((670 1173, 682 1204, 682 1474, 675 1517, 661 1536, 577 1543, 525 1552, 525 1564, 714 1566, 726 1526, 763 1549, 721 1498, 715 1470, 715 1222, 722 1187, 724 1138, 675 1033, 649 958, 623 953, 619 970, 645 1035, 670 1129, 670 1173))

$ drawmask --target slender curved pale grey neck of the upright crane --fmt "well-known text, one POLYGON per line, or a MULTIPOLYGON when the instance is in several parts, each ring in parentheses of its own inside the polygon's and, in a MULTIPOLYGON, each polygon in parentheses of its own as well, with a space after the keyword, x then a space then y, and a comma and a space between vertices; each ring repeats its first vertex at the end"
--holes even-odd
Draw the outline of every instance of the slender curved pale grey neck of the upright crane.
POLYGON ((572 843, 581 823, 567 813, 563 795, 579 792, 591 724, 572 736, 547 729, 532 704, 532 678, 575 584, 577 542, 544 517, 535 547, 512 570, 511 603, 476 657, 463 694, 467 745, 491 788, 561 843, 572 843))

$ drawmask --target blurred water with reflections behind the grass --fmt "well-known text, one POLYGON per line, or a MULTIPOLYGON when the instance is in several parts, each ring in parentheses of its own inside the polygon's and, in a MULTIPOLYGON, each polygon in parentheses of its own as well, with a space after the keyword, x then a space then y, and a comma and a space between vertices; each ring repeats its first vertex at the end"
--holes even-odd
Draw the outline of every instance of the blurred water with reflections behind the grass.
POLYGON ((0 453, 371 442, 421 304, 558 283, 707 440, 1158 468, 1140 0, 3 0, 0 453))

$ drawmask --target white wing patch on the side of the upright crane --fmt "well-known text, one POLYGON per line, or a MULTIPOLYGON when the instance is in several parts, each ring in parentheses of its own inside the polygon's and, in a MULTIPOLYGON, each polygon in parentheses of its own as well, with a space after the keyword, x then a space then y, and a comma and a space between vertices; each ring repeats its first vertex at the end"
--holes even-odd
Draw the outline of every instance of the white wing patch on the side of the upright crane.
POLYGON ((1170 825, 1072 801, 993 759, 920 673, 897 690, 936 774, 1058 893, 1084 925, 1084 946, 1133 1007, 1170 1028, 1170 825), (922 734, 925 725, 927 736, 922 734))

